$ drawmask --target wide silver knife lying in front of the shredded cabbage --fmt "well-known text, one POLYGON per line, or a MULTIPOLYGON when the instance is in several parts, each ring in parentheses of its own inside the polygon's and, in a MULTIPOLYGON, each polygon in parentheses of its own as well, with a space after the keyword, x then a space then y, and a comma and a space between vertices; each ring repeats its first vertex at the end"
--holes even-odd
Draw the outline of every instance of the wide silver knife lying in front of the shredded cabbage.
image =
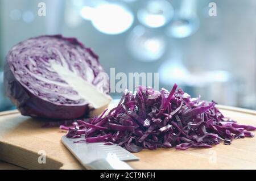
POLYGON ((104 142, 74 143, 74 141, 79 140, 81 138, 72 139, 65 136, 61 138, 63 144, 86 169, 133 170, 124 161, 135 161, 139 159, 118 145, 104 145, 104 142))

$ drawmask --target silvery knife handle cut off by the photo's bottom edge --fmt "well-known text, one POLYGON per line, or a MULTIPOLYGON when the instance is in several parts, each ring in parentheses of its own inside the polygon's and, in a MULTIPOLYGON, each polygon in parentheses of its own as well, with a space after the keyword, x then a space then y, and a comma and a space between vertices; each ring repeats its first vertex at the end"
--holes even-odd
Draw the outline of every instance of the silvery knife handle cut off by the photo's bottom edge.
POLYGON ((126 162, 119 159, 98 159, 84 167, 90 170, 133 170, 126 162))

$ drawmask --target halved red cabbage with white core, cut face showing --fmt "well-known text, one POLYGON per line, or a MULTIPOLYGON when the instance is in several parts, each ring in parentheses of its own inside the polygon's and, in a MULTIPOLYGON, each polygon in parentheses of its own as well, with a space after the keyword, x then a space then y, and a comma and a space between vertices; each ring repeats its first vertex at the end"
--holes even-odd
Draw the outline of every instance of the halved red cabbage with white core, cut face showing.
POLYGON ((7 54, 4 73, 6 94, 22 115, 76 119, 111 100, 98 56, 75 38, 22 41, 7 54))

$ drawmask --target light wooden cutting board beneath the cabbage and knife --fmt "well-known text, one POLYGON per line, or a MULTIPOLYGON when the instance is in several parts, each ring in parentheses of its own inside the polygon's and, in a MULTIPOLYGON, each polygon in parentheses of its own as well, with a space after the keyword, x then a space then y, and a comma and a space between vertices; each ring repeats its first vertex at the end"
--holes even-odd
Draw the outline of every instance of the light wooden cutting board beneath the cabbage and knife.
MULTIPOLYGON (((240 124, 256 126, 256 111, 225 106, 221 110, 240 124)), ((0 160, 25 169, 84 169, 61 144, 65 133, 59 128, 42 128, 44 124, 44 120, 22 116, 16 110, 1 112, 0 160), (42 150, 46 163, 38 162, 42 150)), ((256 138, 210 149, 143 150, 135 155, 140 160, 129 162, 134 169, 256 169, 256 138)))

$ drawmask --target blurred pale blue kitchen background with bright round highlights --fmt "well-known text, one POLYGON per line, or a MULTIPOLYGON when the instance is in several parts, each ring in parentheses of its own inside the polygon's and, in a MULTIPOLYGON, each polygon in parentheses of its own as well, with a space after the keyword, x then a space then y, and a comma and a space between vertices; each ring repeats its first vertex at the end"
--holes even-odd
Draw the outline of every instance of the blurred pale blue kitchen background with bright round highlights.
POLYGON ((57 33, 92 48, 108 74, 110 68, 158 72, 159 87, 171 89, 176 82, 192 96, 256 110, 255 5, 254 0, 1 0, 0 110, 14 108, 2 85, 9 49, 29 37, 57 33), (44 5, 46 16, 38 14, 44 5))

